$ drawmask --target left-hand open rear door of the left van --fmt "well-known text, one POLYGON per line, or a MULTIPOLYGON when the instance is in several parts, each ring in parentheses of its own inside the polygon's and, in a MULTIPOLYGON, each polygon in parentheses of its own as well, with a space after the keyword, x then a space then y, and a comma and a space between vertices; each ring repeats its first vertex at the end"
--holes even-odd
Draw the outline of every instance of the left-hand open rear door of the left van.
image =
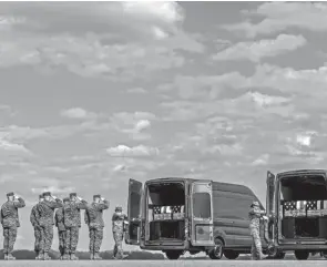
POLYGON ((142 201, 142 183, 136 179, 129 182, 129 230, 125 236, 125 243, 129 245, 140 245, 141 228, 141 201, 142 201))

